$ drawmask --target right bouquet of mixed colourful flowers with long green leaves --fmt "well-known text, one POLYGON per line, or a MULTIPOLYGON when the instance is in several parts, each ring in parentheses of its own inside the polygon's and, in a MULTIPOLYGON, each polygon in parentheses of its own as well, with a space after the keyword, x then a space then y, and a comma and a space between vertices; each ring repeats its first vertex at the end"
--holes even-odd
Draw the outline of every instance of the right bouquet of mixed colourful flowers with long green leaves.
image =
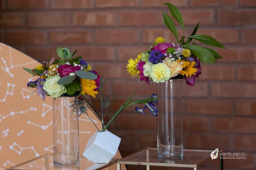
POLYGON ((150 48, 140 53, 137 58, 128 60, 127 71, 133 76, 139 76, 141 81, 149 84, 169 79, 184 78, 188 85, 195 84, 195 78, 201 74, 200 61, 215 63, 222 58, 216 51, 208 47, 195 44, 195 40, 206 45, 225 48, 223 44, 207 35, 196 35, 199 23, 189 37, 185 37, 184 22, 177 7, 171 3, 168 6, 172 17, 181 25, 183 36, 178 41, 177 29, 172 18, 163 11, 166 27, 174 35, 176 42, 166 43, 164 38, 158 37, 150 48), (193 44, 189 44, 194 39, 193 44))

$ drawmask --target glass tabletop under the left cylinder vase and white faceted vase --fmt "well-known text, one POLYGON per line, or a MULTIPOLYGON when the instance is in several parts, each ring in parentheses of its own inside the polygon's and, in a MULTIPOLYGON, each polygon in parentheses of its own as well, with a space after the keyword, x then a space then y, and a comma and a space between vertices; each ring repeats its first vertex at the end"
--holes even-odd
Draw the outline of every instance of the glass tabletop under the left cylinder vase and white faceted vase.
POLYGON ((109 163, 94 163, 85 157, 80 157, 79 164, 73 165, 55 165, 53 164, 53 155, 46 154, 20 165, 8 168, 7 170, 100 170, 116 163, 116 159, 112 159, 109 163))

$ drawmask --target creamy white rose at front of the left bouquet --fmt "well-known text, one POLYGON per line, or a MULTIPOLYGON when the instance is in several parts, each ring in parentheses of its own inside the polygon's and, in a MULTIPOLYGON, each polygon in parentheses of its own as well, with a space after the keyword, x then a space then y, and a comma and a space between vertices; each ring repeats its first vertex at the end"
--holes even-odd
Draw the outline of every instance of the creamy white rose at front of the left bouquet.
POLYGON ((60 79, 60 76, 48 76, 44 82, 43 89, 47 92, 47 95, 57 98, 67 92, 67 89, 64 85, 59 85, 57 81, 60 79))

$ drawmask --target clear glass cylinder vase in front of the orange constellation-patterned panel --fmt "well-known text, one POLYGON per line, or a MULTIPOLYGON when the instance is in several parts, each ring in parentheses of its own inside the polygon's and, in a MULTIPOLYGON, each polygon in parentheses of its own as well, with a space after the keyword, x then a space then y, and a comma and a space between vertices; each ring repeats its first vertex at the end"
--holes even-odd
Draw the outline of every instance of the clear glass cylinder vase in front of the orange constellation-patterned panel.
POLYGON ((77 97, 53 100, 53 162, 57 165, 79 163, 77 97))

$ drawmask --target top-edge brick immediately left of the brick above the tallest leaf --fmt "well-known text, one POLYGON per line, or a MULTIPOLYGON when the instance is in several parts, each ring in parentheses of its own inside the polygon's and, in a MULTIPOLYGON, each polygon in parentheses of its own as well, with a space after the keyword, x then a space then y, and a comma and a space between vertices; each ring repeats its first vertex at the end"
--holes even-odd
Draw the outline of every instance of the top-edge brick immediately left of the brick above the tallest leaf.
POLYGON ((138 0, 96 0, 97 7, 134 7, 138 4, 138 0))

